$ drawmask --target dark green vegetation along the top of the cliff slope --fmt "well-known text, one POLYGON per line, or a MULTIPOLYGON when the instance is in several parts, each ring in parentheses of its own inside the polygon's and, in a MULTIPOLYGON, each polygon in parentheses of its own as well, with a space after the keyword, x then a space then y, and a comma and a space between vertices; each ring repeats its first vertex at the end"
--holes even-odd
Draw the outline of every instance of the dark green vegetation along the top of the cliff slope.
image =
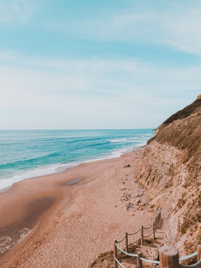
POLYGON ((170 116, 167 120, 165 120, 165 122, 163 122, 163 124, 170 124, 174 120, 183 119, 190 116, 190 114, 194 112, 195 109, 197 109, 200 105, 201 105, 201 99, 196 99, 193 103, 191 103, 187 107, 183 108, 182 110, 170 116))

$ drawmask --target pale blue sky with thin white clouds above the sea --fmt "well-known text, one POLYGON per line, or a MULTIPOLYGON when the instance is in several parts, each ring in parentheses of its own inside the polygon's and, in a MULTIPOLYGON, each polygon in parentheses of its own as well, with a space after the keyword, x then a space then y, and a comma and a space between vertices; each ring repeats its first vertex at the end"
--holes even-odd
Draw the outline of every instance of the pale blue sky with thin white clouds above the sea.
POLYGON ((0 0, 0 129, 158 127, 201 93, 200 29, 200 0, 0 0))

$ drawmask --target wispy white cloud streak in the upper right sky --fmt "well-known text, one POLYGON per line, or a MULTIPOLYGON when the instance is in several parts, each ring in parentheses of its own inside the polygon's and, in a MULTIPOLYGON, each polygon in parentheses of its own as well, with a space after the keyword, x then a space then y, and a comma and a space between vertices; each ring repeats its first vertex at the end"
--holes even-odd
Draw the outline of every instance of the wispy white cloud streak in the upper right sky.
POLYGON ((176 50, 201 54, 200 14, 199 2, 194 6, 171 3, 160 9, 147 4, 110 16, 62 20, 50 25, 80 38, 166 44, 176 50))

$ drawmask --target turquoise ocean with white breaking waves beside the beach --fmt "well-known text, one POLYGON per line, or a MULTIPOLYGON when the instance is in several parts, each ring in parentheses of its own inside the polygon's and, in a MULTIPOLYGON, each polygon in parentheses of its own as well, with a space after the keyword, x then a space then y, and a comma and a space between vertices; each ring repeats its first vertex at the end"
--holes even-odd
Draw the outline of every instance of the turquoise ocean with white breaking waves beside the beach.
POLYGON ((0 189, 83 162, 119 157, 146 144, 152 129, 0 130, 0 189))

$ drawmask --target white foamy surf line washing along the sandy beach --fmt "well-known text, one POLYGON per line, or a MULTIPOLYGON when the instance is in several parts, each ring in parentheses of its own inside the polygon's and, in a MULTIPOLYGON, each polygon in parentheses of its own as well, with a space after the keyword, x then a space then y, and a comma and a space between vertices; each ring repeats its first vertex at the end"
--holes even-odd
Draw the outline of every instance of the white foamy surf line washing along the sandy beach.
MULTIPOLYGON (((6 191, 8 191, 9 189, 10 189, 10 187, 12 187, 12 185, 14 184, 14 183, 16 183, 16 182, 18 182, 18 181, 23 181, 23 180, 27 180, 27 179, 32 179, 32 178, 37 178, 37 177, 42 177, 42 176, 47 176, 47 175, 52 175, 52 174, 56 174, 56 173, 61 173, 61 172, 64 172, 66 169, 70 169, 70 168, 72 168, 72 167, 76 167, 76 166, 79 166, 80 164, 83 164, 83 163, 90 163, 90 162, 93 162, 93 161, 100 161, 100 160, 106 160, 106 159, 112 159, 112 158, 118 158, 118 157, 121 157, 124 153, 127 153, 127 152, 132 152, 133 150, 138 150, 138 149, 141 149, 141 148, 144 148, 144 146, 145 146, 146 144, 144 144, 144 145, 140 145, 140 146, 137 146, 137 147, 133 147, 133 148, 125 148, 125 149, 119 149, 119 150, 117 150, 117 151, 121 151, 121 150, 123 150, 122 152, 119 152, 119 155, 118 156, 112 156, 112 154, 113 153, 115 153, 115 152, 117 152, 117 151, 113 151, 113 152, 111 152, 108 156, 105 156, 105 157, 103 157, 103 158, 95 158, 95 159, 89 159, 89 160, 86 160, 86 161, 82 161, 82 160, 80 160, 80 161, 78 161, 77 163, 74 163, 74 164, 71 164, 71 162, 67 162, 67 163, 59 163, 59 164, 55 164, 55 165, 58 165, 58 167, 55 167, 55 168, 53 168, 53 172, 51 172, 51 173, 43 173, 43 174, 40 174, 40 175, 38 175, 38 176, 31 176, 31 177, 29 177, 28 175, 28 177, 25 177, 25 178, 22 178, 22 179, 19 179, 19 180, 17 180, 17 181, 14 181, 14 182, 12 182, 12 184, 10 185, 7 185, 6 187, 3 187, 3 188, 0 188, 0 194, 2 193, 2 192, 6 192, 6 191), (62 164, 64 164, 64 165, 62 165, 62 164), (60 165, 60 166, 59 166, 60 165)), ((72 162, 73 163, 73 162, 72 162)), ((36 167, 36 168, 34 168, 34 169, 47 169, 47 168, 50 168, 51 166, 52 166, 53 164, 49 164, 49 165, 47 165, 47 166, 44 166, 44 167, 36 167)), ((28 172, 28 171, 30 171, 29 169, 28 170, 26 170, 25 172, 28 172)), ((13 176, 12 176, 13 177, 13 176)), ((9 178, 7 178, 7 179, 10 179, 10 178, 12 178, 12 177, 9 177, 9 178)), ((5 179, 6 180, 6 179, 5 179)), ((1 187, 1 186, 0 186, 1 187)))

